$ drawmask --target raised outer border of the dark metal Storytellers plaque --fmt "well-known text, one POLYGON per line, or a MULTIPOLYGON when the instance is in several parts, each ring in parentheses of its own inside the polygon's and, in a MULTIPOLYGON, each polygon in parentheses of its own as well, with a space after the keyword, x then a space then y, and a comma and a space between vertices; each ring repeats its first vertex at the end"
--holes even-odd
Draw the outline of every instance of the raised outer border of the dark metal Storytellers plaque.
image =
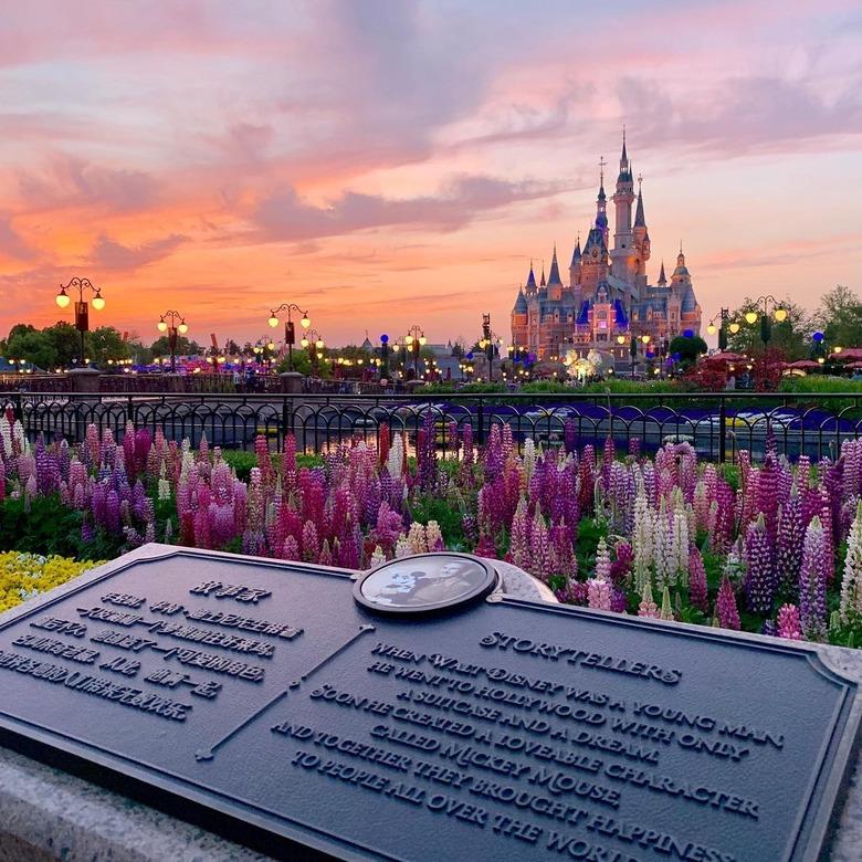
MULTIPOLYGON (((454 551, 451 554, 469 556, 458 555, 454 551)), ((236 555, 228 551, 150 544, 6 611, 0 614, 0 631, 18 622, 20 618, 49 608, 134 565, 172 557, 236 561, 236 555)), ((350 581, 357 578, 357 572, 350 569, 266 557, 242 559, 244 565, 282 568, 285 575, 292 574, 291 570, 298 570, 304 575, 334 576, 350 581)), ((488 567, 493 570, 493 567, 488 567)), ((362 575, 365 572, 360 574, 360 579, 362 575)), ((805 790, 803 810, 788 834, 786 853, 781 859, 782 862, 817 862, 828 858, 823 854, 829 851, 842 813, 842 806, 839 805, 840 797, 849 786, 859 754, 862 697, 859 696, 860 683, 830 667, 823 661, 821 651, 816 644, 771 639, 749 632, 713 630, 703 626, 632 617, 568 605, 551 605, 501 596, 498 592, 486 595, 486 600, 494 601, 503 608, 524 608, 539 610, 543 613, 584 618, 593 623, 600 621, 616 627, 652 630, 685 640, 695 638, 724 644, 729 642, 749 650, 765 650, 805 660, 811 670, 838 686, 840 692, 831 724, 823 734, 819 766, 812 770, 811 779, 805 790), (843 760, 843 768, 835 769, 833 764, 841 760, 843 760)), ((463 601, 470 600, 459 601, 455 607, 462 608, 463 601)), ((366 610, 364 606, 362 609, 366 610)), ((393 618, 403 619, 400 614, 393 618)), ((260 803, 231 796, 202 780, 192 781, 160 766, 133 759, 122 753, 67 736, 62 730, 41 727, 29 719, 10 715, 1 705, 0 745, 264 853, 273 851, 288 853, 292 859, 328 859, 333 854, 345 860, 389 859, 403 862, 404 859, 383 853, 377 848, 368 847, 344 834, 305 823, 260 803), (177 792, 178 786, 182 788, 182 793, 177 792), (272 819, 281 823, 281 832, 273 831, 272 819)))

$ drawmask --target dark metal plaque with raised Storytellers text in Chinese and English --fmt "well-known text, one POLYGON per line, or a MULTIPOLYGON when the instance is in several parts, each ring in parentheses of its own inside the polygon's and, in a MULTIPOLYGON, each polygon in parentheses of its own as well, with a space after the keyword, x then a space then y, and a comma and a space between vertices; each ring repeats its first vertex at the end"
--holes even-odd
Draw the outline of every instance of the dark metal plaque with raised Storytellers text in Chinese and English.
POLYGON ((149 546, 2 618, 0 742, 276 855, 818 858, 855 683, 811 648, 482 598, 487 571, 391 613, 371 576, 149 546))

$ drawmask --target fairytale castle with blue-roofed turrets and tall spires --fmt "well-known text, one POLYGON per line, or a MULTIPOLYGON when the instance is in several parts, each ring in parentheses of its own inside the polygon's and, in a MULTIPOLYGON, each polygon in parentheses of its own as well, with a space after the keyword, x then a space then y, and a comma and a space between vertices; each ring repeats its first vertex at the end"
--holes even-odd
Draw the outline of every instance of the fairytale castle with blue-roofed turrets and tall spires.
POLYGON ((547 281, 543 266, 536 283, 533 264, 526 285, 518 290, 512 309, 512 343, 535 353, 539 359, 561 357, 568 351, 586 356, 598 350, 608 360, 624 366, 630 360, 631 339, 638 339, 638 357, 662 355, 666 344, 677 335, 700 335, 701 306, 694 295, 692 278, 680 244, 676 269, 670 282, 661 265, 659 281, 649 284, 650 234, 643 213, 643 195, 638 178, 634 223, 631 212, 634 180, 622 137, 620 175, 611 199, 617 210, 613 248, 609 248, 605 162, 597 199, 596 223, 590 228, 584 249, 580 236, 571 255, 568 284, 563 283, 557 248, 550 261, 547 281), (643 345, 642 336, 650 336, 643 345))

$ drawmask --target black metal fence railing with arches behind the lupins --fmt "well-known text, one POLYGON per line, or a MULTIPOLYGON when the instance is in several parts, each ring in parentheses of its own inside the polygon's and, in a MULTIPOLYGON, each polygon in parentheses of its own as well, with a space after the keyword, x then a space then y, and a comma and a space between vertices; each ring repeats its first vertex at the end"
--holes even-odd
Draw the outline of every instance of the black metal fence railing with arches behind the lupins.
POLYGON ((532 438, 563 445, 567 434, 579 446, 601 445, 608 437, 618 446, 632 441, 654 452, 670 441, 687 441, 706 459, 727 461, 739 450, 763 455, 768 444, 796 460, 835 459, 844 440, 862 435, 862 396, 829 395, 222 395, 162 392, 153 395, 72 395, 0 392, 35 439, 61 434, 81 440, 88 424, 109 428, 115 435, 126 424, 161 429, 168 440, 188 438, 198 445, 203 435, 212 445, 252 449, 263 435, 271 449, 286 434, 299 451, 325 452, 351 438, 376 441, 387 425, 413 446, 423 427, 439 451, 451 452, 458 437, 471 427, 482 443, 494 425, 508 424, 518 448, 532 438), (567 431, 568 428, 568 431, 567 431))

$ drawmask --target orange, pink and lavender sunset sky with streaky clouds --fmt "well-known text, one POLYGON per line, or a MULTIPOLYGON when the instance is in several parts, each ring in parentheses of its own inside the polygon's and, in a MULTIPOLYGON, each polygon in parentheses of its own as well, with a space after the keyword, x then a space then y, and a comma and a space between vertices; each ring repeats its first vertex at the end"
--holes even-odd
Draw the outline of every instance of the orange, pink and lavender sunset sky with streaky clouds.
POLYGON ((146 341, 167 308, 255 339, 284 301, 330 345, 507 339, 623 124, 651 280, 682 240, 704 324, 862 293, 858 0, 6 3, 0 333, 87 275, 146 341))

